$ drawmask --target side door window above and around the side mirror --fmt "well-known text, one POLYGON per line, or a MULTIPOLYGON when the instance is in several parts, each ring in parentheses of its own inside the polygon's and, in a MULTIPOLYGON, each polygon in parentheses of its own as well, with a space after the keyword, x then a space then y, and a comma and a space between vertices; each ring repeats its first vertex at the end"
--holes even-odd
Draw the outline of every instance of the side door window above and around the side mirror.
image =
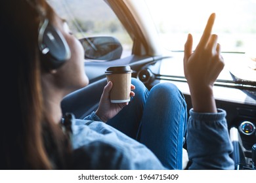
MULTIPOLYGON (((133 41, 116 14, 103 0, 47 0, 59 16, 67 20, 77 39, 111 36, 121 42, 121 58, 131 55, 133 41)), ((100 61, 85 59, 85 61, 100 61)))

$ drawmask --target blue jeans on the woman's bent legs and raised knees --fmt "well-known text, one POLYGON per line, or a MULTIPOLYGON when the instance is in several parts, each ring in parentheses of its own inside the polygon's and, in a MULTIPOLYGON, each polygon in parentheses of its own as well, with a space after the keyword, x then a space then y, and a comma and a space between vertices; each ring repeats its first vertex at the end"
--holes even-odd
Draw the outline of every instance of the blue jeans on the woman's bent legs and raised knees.
POLYGON ((167 169, 182 169, 182 146, 186 132, 186 101, 171 83, 150 91, 132 78, 135 97, 107 124, 145 144, 167 169))

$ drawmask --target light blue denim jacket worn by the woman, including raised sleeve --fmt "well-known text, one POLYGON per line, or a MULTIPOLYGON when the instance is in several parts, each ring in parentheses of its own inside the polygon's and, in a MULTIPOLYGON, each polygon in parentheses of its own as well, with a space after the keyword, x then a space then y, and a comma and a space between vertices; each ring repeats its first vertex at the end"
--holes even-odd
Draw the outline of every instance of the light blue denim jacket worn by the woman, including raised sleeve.
MULTIPOLYGON (((226 112, 196 113, 190 110, 187 147, 190 169, 234 169, 229 154, 226 112)), ((74 169, 166 169, 144 144, 103 122, 95 112, 72 122, 74 169)))

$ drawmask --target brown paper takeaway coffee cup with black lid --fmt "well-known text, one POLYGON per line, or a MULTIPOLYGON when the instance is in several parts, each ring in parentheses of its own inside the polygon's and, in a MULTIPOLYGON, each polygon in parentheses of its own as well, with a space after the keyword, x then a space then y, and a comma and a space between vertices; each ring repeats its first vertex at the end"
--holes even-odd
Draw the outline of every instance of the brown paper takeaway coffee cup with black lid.
POLYGON ((110 91, 110 101, 112 103, 125 103, 130 101, 131 93, 131 70, 130 66, 109 67, 105 74, 113 87, 110 91))

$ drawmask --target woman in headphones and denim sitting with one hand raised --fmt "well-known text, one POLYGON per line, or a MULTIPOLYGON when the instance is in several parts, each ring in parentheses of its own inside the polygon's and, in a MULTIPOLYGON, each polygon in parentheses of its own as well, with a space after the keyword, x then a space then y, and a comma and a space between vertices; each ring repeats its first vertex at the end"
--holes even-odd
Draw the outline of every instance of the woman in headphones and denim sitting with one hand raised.
MULTIPOLYGON (((88 84, 81 44, 45 1, 2 4, 1 35, 5 36, 1 42, 5 46, 1 55, 9 56, 4 62, 6 68, 15 68, 14 80, 8 78, 11 86, 7 86, 16 92, 6 103, 5 116, 9 117, 9 111, 17 116, 3 123, 1 169, 181 169, 186 103, 175 86, 158 84, 148 92, 142 83, 133 80, 133 100, 129 105, 113 105, 109 100, 112 83, 108 82, 95 112, 85 120, 74 120, 68 115, 62 123, 62 98, 88 84), (48 42, 42 41, 45 32, 50 48, 51 40, 55 40, 52 37, 56 35, 62 40, 63 58, 55 56, 47 48, 48 42), (158 98, 161 107, 152 108, 158 95, 165 96, 162 102, 158 98), (171 110, 169 103, 173 103, 171 110), (125 120, 127 116, 123 114, 127 112, 131 112, 128 115, 131 118, 125 120)), ((188 124, 192 169, 234 168, 228 156, 232 146, 225 113, 217 110, 212 91, 213 82, 224 66, 217 36, 211 35, 214 18, 212 14, 194 53, 191 35, 185 45, 184 73, 194 107, 188 124), (207 123, 213 119, 216 122, 207 123), (205 132, 198 133, 194 124, 204 127, 218 140, 202 138, 205 132), (192 145, 190 139, 196 144, 192 145), (199 152, 194 149, 198 144, 224 148, 209 157, 207 148, 199 152)))

